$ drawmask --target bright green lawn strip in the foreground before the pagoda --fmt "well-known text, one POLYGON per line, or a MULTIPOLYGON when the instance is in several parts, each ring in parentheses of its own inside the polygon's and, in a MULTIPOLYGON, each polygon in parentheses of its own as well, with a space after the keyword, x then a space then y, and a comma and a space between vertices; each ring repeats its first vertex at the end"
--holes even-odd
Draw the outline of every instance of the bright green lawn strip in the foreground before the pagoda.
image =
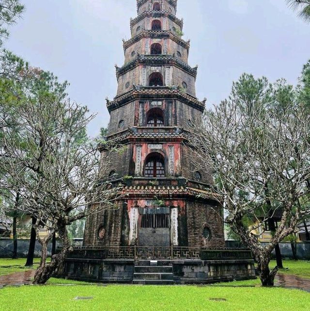
POLYGON ((310 295, 260 287, 50 285, 6 287, 0 301, 5 311, 305 311, 310 295))

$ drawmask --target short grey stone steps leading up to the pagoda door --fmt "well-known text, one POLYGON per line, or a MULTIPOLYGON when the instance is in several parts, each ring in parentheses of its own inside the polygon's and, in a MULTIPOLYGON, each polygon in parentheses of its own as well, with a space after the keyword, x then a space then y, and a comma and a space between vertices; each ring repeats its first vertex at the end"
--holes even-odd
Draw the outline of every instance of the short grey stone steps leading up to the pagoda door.
POLYGON ((172 285, 171 265, 158 265, 156 261, 139 261, 134 268, 133 284, 172 285))

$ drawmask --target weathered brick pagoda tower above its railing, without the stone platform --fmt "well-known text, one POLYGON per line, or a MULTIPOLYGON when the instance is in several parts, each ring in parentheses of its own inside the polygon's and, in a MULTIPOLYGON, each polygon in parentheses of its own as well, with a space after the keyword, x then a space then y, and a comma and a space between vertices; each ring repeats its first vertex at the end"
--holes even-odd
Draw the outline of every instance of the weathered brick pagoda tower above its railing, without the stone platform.
POLYGON ((205 100, 196 98, 197 66, 188 65, 177 0, 137 0, 116 65, 118 89, 107 99, 108 150, 102 179, 124 185, 118 208, 91 214, 84 246, 223 247, 223 211, 190 143, 205 100))

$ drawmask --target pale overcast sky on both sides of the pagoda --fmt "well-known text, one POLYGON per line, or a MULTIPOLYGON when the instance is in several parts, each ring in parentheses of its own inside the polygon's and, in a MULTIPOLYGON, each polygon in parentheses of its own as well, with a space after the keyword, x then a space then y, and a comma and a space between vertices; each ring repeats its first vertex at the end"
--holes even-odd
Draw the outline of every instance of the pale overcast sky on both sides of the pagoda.
MULTIPOLYGON (((116 94, 114 64, 124 63, 136 0, 21 2, 26 12, 6 48, 69 81, 70 98, 98 113, 89 127, 97 135, 109 122, 105 98, 116 94)), ((199 65, 197 97, 208 105, 227 98, 243 72, 295 84, 310 59, 310 25, 285 0, 178 0, 177 16, 191 39, 189 65, 199 65)))

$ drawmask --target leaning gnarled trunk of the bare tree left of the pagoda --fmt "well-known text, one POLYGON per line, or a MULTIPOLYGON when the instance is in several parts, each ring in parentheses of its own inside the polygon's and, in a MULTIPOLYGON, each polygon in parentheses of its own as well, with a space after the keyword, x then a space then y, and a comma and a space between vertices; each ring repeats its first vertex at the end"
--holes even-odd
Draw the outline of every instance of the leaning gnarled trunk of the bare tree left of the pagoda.
MULTIPOLYGON (((46 264, 46 256, 45 262, 41 260, 41 265, 35 272, 33 284, 45 284, 47 280, 53 275, 53 273, 62 266, 68 254, 72 251, 72 246, 70 245, 70 239, 68 238, 68 231, 66 229, 65 222, 59 221, 57 224, 57 229, 59 238, 62 241, 62 250, 57 255, 54 255, 51 262, 48 264, 46 264)), ((52 236, 50 238, 52 238, 52 236)), ((45 254, 46 253, 47 247, 45 249, 45 254)))

